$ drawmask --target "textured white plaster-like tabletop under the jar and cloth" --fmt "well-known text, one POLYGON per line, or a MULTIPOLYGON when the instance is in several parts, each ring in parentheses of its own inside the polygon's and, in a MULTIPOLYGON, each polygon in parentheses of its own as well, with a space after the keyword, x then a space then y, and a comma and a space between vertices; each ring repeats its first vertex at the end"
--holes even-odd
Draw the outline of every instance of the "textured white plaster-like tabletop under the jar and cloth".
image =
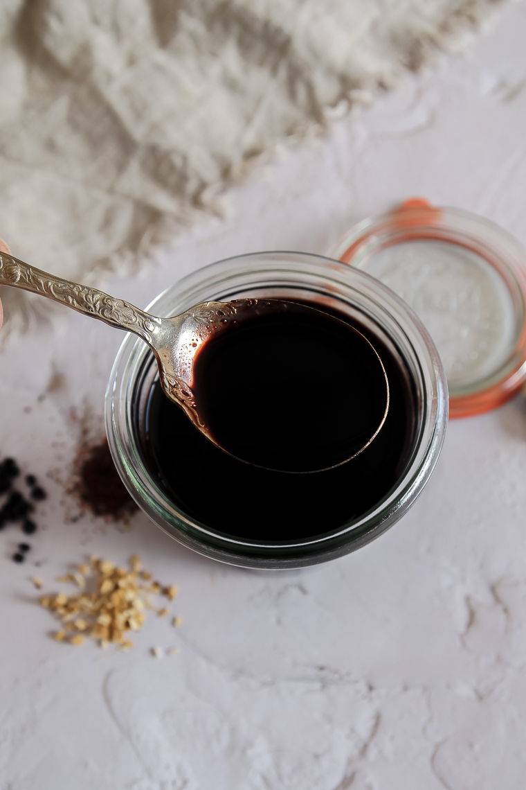
MULTIPOLYGON (((147 303, 209 261, 323 252, 369 213, 423 194, 526 243, 526 6, 439 73, 411 80, 330 139, 231 194, 215 221, 110 292, 147 303)), ((8 317, 9 318, 9 317, 8 317)), ((69 408, 101 419, 121 337, 66 314, 0 355, 0 453, 65 468, 69 408), (73 355, 69 367, 65 355, 73 355), (47 392, 56 372, 62 389, 47 392), (28 410, 30 409, 30 410, 28 410)), ((345 559, 287 574, 231 569, 142 516, 131 532, 65 525, 58 485, 32 540, 0 534, 2 790, 517 790, 526 757, 526 407, 450 424, 413 509, 345 559), (138 552, 180 585, 183 623, 149 619, 130 653, 52 641, 28 577, 138 552), (181 646, 153 658, 149 649, 181 646)))

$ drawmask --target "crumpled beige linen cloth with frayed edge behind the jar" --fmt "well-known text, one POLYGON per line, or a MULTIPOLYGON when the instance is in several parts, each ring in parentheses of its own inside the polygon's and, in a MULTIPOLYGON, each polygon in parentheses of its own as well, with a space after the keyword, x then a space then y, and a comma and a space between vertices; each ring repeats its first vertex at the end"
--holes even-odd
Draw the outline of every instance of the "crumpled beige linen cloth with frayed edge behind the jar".
MULTIPOLYGON (((39 268, 100 284, 495 2, 5 0, 0 235, 39 268)), ((2 299, 4 339, 46 308, 14 289, 2 299)))

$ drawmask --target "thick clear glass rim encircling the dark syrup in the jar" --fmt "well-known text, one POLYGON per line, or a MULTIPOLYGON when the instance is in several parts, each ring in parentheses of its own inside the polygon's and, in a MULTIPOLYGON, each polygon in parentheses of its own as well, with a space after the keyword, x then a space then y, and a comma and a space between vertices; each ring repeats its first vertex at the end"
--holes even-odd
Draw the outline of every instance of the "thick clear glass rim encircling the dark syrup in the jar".
MULTIPOLYGON (((177 314, 196 303, 256 295, 261 289, 297 288, 325 299, 361 299, 367 310, 392 322, 412 355, 421 379, 423 419, 408 461, 409 468, 382 506, 341 529, 308 540, 265 543, 240 540, 207 528, 169 502, 141 464, 133 439, 130 412, 137 371, 150 353, 136 337, 121 344, 106 389, 106 432, 118 472, 142 510, 165 532, 201 554, 245 567, 278 568, 311 565, 333 559, 366 544, 384 532, 407 510, 427 482, 446 430, 446 379, 435 345, 420 319, 389 288, 375 278, 330 258, 294 252, 263 252, 225 258, 181 278, 146 308, 161 316, 177 314), (389 314, 389 317, 388 317, 389 314), (412 350, 409 350, 412 349, 412 350), (345 540, 348 539, 348 540, 345 540), (342 544, 343 540, 343 544, 342 544), (279 554, 279 557, 277 556, 279 554), (304 555, 304 556, 300 556, 304 555)), ((365 310, 364 305, 362 308, 365 310)), ((401 340, 400 340, 401 341, 401 340)))

